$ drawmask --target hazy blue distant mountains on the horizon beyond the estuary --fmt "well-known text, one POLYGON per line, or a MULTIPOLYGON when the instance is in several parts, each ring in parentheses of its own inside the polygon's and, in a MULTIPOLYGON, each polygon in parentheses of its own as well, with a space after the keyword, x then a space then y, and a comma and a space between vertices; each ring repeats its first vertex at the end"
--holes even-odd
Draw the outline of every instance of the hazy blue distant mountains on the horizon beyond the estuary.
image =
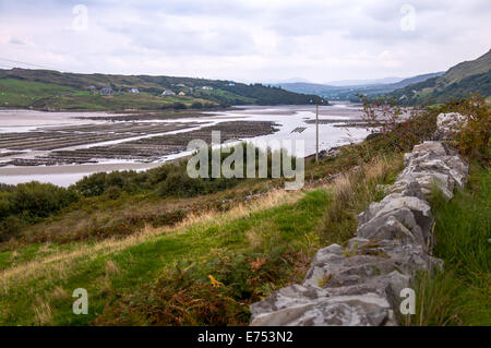
MULTIPOLYGON (((417 75, 408 79, 404 79, 397 81, 395 83, 379 83, 379 84, 362 84, 362 85, 349 85, 349 86, 334 86, 334 85, 325 85, 325 84, 316 84, 316 83, 282 83, 277 84, 284 89, 288 89, 295 93, 304 93, 304 94, 316 94, 327 99, 333 100, 351 100, 358 101, 358 94, 364 94, 369 96, 387 94, 397 88, 403 88, 409 84, 414 84, 417 82, 421 82, 428 80, 430 77, 441 76, 443 72, 435 72, 429 74, 417 75)), ((393 79, 398 77, 386 77, 372 81, 391 81, 393 79)), ((355 82, 355 80, 350 80, 355 82)), ((361 81, 361 80, 359 80, 361 81)), ((363 82, 368 82, 369 80, 363 80, 363 82)))

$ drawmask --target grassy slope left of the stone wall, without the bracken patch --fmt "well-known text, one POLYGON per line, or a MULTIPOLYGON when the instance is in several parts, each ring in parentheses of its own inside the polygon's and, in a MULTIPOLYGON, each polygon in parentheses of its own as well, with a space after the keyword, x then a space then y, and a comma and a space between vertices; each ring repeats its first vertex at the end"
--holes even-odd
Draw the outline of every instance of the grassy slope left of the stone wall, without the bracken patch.
MULTIPOLYGON (((348 151, 338 159, 324 160, 310 172, 316 177, 339 167, 346 171, 345 165, 355 158, 359 160, 359 156, 351 156, 348 151)), ((394 175, 387 172, 400 169, 400 160, 379 160, 367 168, 358 178, 373 180, 360 181, 360 187, 374 189, 378 183, 392 180, 394 175)), ((345 182, 342 180, 344 191, 345 182)), ((352 236, 352 230, 347 232, 350 225, 340 226, 339 233, 335 235, 322 230, 326 212, 338 209, 335 202, 344 199, 335 189, 337 184, 308 192, 273 191, 247 205, 239 203, 226 213, 191 215, 177 227, 147 226, 124 239, 32 244, 0 252, 0 324, 88 324, 107 303, 154 283, 164 271, 175 269, 177 263, 194 263, 206 279, 208 265, 223 262, 230 253, 246 257, 246 265, 248 259, 255 257, 282 265, 264 281, 264 288, 254 290, 253 295, 267 296, 289 281, 299 280, 309 257, 321 245, 343 243, 352 236), (288 259, 291 262, 285 261, 288 259), (91 314, 87 316, 72 314, 71 292, 77 287, 88 290, 91 314)), ((358 197, 356 207, 343 205, 345 216, 349 215, 351 221, 361 204, 367 204, 373 195, 358 197)), ((226 281, 219 274, 216 277, 226 281)), ((247 277, 241 281, 226 287, 238 291, 249 286, 247 277)), ((236 300, 247 309, 251 296, 236 300)), ((247 316, 241 320, 246 323, 247 316)))

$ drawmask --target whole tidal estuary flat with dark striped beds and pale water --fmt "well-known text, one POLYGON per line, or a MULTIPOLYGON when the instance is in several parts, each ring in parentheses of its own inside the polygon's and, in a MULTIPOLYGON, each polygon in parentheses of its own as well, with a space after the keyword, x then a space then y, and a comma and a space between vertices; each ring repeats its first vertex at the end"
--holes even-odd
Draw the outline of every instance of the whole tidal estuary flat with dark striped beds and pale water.
MULTIPOLYGON (((320 149, 364 139, 352 104, 321 106, 320 149)), ((145 170, 189 155, 189 141, 303 140, 315 152, 314 106, 248 106, 231 110, 108 113, 0 110, 0 182, 69 185, 97 171, 145 170), (296 130, 302 129, 301 132, 296 130)))

